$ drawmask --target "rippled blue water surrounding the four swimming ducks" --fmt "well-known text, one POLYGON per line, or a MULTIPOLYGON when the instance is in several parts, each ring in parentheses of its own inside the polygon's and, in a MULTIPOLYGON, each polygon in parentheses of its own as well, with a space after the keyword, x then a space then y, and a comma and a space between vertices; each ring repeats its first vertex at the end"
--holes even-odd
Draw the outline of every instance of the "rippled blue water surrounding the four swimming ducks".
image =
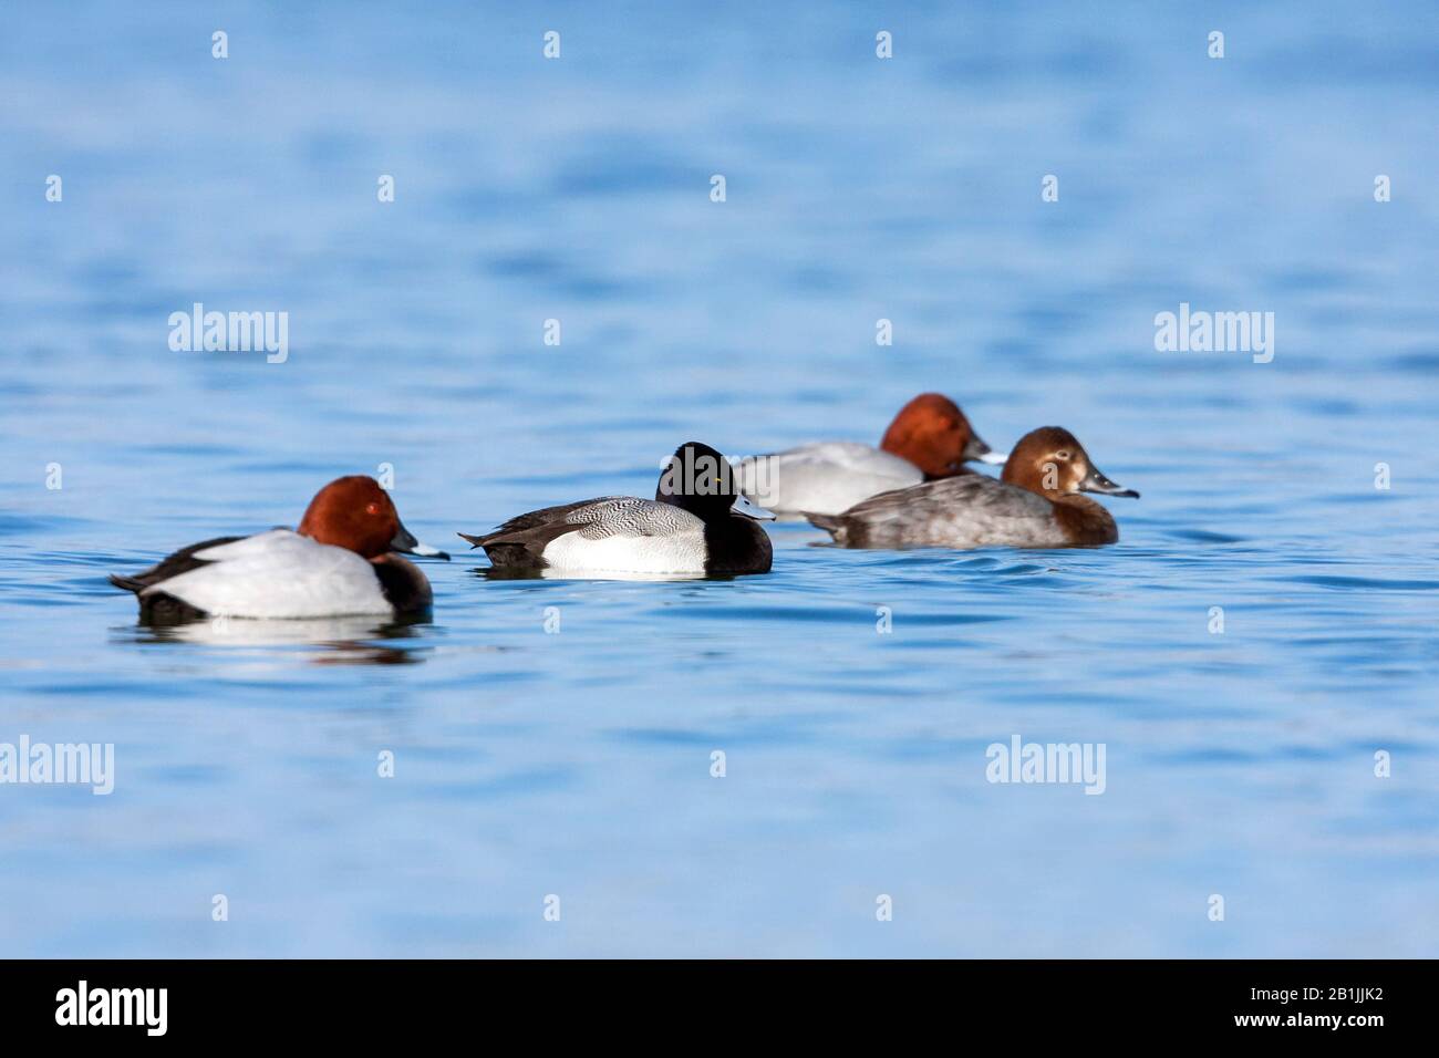
POLYGON ((0 953, 1439 954, 1436 9, 517 7, 4 14, 0 741, 117 774, 0 786, 0 953), (196 301, 289 358, 173 353, 196 301), (1157 353, 1180 302, 1272 363, 1157 353), (456 553, 403 629, 105 583, 381 464, 459 544, 931 389, 1072 429, 1121 543, 456 553), (1104 795, 989 783, 1014 734, 1104 795))

